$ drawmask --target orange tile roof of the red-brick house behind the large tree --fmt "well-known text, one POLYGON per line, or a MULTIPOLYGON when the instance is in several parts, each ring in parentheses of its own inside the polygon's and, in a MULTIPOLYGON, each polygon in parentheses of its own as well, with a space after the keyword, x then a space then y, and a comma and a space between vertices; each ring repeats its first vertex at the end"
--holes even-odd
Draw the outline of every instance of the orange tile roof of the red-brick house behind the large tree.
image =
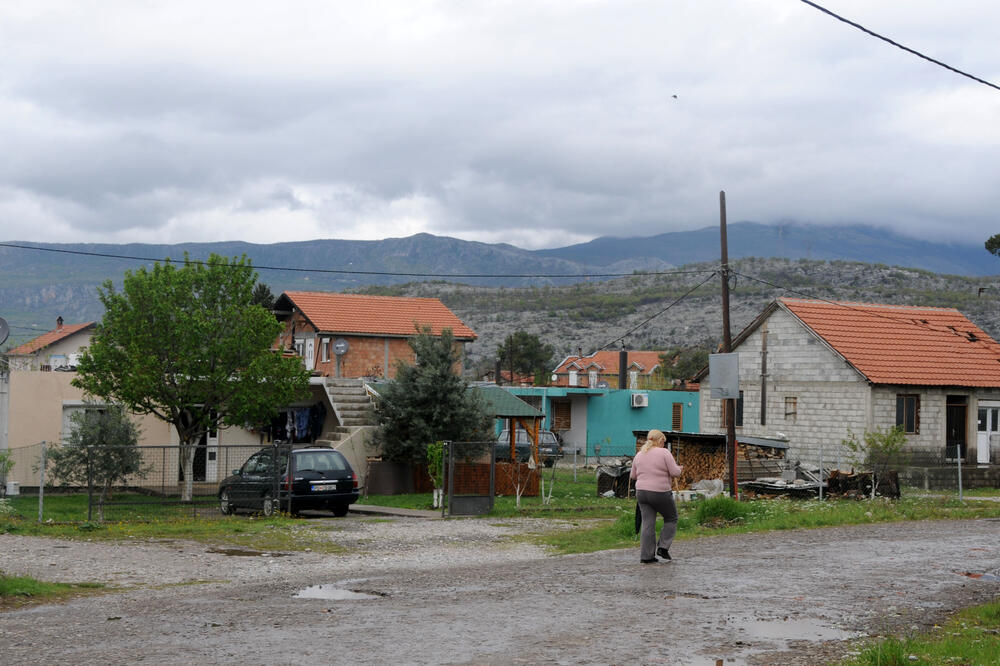
MULTIPOLYGON (((287 297, 321 333, 355 333, 408 337, 415 326, 434 335, 450 328, 458 340, 475 340, 476 332, 436 298, 364 296, 323 291, 286 291, 287 297)), ((279 298, 279 301, 281 299, 279 298)))

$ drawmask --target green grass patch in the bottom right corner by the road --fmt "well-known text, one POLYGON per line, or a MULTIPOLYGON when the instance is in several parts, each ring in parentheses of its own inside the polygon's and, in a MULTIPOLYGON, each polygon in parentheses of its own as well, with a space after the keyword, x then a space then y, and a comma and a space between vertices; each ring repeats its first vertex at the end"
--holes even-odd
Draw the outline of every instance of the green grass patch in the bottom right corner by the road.
POLYGON ((998 655, 1000 600, 966 608, 929 633, 909 638, 890 636, 868 644, 841 666, 986 666, 996 664, 998 655))

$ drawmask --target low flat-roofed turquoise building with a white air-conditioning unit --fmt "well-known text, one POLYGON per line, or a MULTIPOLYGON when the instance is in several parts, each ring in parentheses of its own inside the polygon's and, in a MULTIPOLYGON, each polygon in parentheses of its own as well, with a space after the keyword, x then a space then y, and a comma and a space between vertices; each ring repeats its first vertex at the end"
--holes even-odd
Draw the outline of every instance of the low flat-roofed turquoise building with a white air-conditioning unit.
POLYGON ((563 451, 568 457, 574 451, 588 458, 634 455, 633 430, 699 430, 698 391, 566 386, 503 388, 545 413, 542 427, 562 437, 563 451))

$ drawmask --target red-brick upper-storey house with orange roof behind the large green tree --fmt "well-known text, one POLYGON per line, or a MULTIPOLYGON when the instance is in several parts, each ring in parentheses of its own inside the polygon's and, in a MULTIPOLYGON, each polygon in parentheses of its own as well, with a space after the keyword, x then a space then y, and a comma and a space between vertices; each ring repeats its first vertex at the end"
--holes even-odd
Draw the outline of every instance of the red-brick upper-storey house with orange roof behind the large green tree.
POLYGON ((286 291, 274 312, 285 323, 278 344, 323 377, 394 377, 398 361, 415 360, 408 341, 425 328, 433 335, 451 329, 459 349, 476 339, 436 298, 286 291))

